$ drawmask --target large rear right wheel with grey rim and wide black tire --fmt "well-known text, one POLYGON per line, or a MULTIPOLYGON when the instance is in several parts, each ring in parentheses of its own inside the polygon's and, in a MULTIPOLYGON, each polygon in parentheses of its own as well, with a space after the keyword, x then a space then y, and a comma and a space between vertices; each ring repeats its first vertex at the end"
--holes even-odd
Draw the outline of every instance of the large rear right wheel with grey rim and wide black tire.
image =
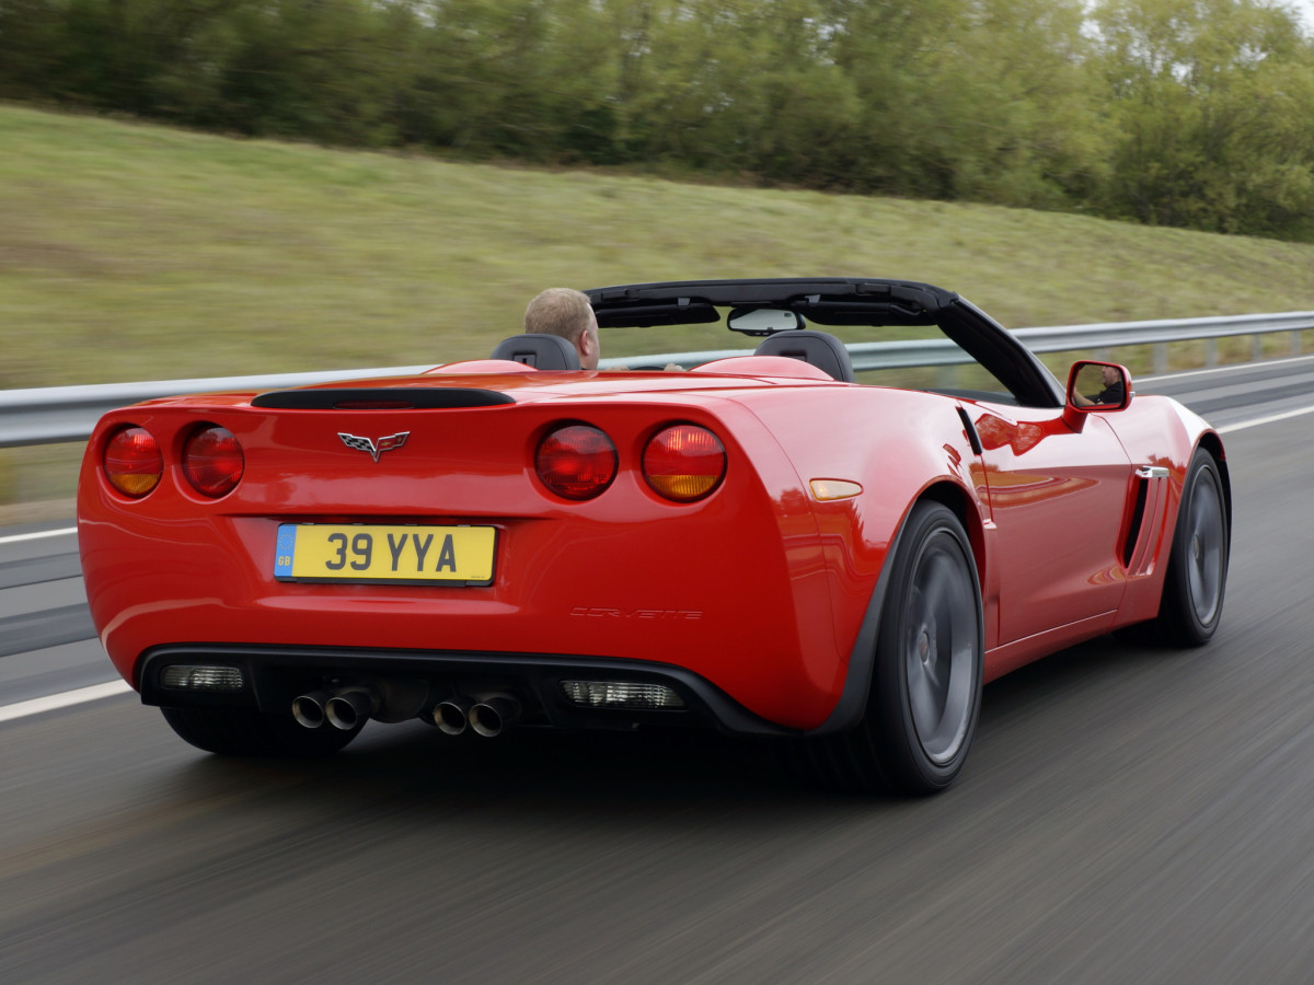
POLYGON ((938 793, 958 776, 980 711, 984 629, 971 542, 940 503, 913 507, 890 569, 871 693, 853 730, 803 739, 823 785, 938 793))

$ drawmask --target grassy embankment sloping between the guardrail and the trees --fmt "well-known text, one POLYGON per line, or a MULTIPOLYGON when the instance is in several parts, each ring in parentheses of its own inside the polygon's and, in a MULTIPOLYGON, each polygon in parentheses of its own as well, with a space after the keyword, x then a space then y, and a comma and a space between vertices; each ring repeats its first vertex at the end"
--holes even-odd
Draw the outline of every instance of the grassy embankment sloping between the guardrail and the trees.
MULTIPOLYGON (((548 285, 848 273, 953 288, 1012 327, 1314 309, 1314 246, 0 105, 0 389, 442 362, 519 331, 548 285)), ((606 355, 733 344, 721 328, 608 339, 606 355)), ((68 495, 33 466, 72 457, 0 452, 0 504, 68 495)))

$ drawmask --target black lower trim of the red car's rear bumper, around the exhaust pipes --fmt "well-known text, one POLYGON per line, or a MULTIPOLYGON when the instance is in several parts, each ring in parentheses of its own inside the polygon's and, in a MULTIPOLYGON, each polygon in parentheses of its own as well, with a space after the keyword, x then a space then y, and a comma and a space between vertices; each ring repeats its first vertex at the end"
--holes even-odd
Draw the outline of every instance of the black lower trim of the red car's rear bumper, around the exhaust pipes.
POLYGON ((180 644, 148 650, 138 665, 142 703, 170 708, 244 708, 290 714, 298 695, 385 679, 423 682, 422 714, 455 695, 515 695, 523 726, 553 729, 631 729, 636 725, 714 728, 728 734, 798 735, 753 714, 700 675, 664 663, 558 654, 469 653, 451 650, 361 650, 355 647, 233 646, 180 644), (175 665, 238 667, 238 692, 191 692, 163 686, 175 665), (582 708, 565 696, 564 680, 619 680, 664 684, 685 703, 662 711, 582 708))

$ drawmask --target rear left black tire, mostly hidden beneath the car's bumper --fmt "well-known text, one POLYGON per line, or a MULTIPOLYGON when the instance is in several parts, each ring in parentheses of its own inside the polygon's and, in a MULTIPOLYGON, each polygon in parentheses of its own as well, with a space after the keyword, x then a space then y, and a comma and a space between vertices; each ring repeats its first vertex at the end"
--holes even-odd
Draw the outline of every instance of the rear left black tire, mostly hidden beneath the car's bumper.
POLYGON ((206 753, 226 756, 323 756, 336 753, 364 728, 306 729, 292 714, 275 716, 251 711, 215 708, 160 708, 164 721, 181 738, 206 753))

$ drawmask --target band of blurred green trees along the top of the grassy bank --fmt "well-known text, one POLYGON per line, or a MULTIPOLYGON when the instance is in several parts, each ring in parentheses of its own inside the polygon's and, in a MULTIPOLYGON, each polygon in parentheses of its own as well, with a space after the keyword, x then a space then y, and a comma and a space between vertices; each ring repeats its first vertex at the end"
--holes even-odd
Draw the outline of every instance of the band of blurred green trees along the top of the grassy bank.
POLYGON ((1281 0, 5 0, 0 97, 1314 239, 1281 0))

